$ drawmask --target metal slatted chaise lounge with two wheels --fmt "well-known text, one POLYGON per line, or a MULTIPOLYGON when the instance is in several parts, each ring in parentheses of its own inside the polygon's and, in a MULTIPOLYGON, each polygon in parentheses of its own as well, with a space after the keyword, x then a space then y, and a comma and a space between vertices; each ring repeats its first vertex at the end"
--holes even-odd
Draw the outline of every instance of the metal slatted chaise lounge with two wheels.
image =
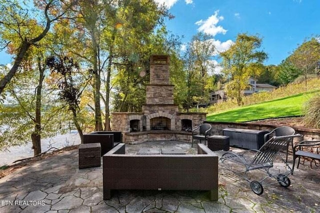
MULTIPOLYGON (((271 174, 269 172, 269 169, 273 167, 273 161, 278 155, 278 153, 281 150, 285 149, 289 141, 292 140, 292 138, 294 137, 301 137, 301 135, 296 134, 279 137, 273 136, 259 150, 246 150, 241 153, 226 152, 220 158, 220 161, 223 163, 223 166, 221 166, 249 182, 251 190, 257 195, 261 195, 263 193, 262 182, 268 177, 274 178, 276 180, 276 182, 274 183, 278 183, 280 184, 280 186, 286 188, 291 184, 288 175, 293 173, 293 170, 289 167, 289 165, 282 159, 283 163, 286 166, 285 171, 273 171, 272 173, 275 174, 271 174), (252 151, 253 153, 250 151, 252 151), (252 154, 254 154, 253 157, 252 154), (235 165, 226 165, 225 161, 233 162, 235 163, 235 165), (239 170, 241 166, 244 166, 245 169, 233 171, 232 166, 234 166, 234 168, 236 168, 237 170, 239 170), (267 175, 263 177, 260 181, 250 181, 246 177, 246 173, 251 170, 260 170, 262 172, 265 172, 267 175)), ((274 183, 266 185, 271 185, 274 183)))

